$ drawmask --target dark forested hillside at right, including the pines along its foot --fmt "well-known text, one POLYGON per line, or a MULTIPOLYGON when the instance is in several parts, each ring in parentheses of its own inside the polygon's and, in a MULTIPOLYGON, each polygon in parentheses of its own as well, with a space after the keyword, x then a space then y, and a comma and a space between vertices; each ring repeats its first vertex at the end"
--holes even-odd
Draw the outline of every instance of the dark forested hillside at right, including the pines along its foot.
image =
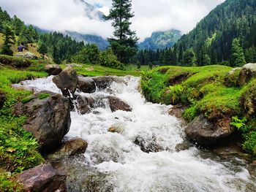
POLYGON ((166 50, 139 51, 140 64, 242 66, 256 62, 256 1, 227 0, 166 50), (237 61, 236 61, 237 60, 237 61))

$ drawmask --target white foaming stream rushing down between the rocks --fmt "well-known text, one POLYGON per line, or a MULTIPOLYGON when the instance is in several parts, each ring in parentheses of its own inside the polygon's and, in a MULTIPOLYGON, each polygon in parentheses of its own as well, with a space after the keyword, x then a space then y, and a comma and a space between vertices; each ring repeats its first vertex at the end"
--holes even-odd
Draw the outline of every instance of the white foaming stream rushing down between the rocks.
MULTIPOLYGON (((69 191, 256 191, 255 166, 238 158, 222 160, 193 146, 176 151, 176 145, 184 142, 184 128, 167 115, 170 106, 146 102, 138 89, 139 78, 120 78, 122 82, 113 82, 103 91, 78 93, 92 96, 100 104, 86 115, 71 112, 67 138, 81 137, 89 147, 83 158, 64 164, 72 166, 66 167, 68 179, 73 178, 69 191), (111 112, 108 100, 102 99, 109 95, 126 101, 132 112, 111 112), (113 126, 119 133, 108 131, 113 126), (144 153, 135 145, 138 136, 148 142, 154 138, 164 150, 144 153), (88 183, 97 186, 89 190, 88 183)), ((23 85, 60 93, 52 77, 23 85)))

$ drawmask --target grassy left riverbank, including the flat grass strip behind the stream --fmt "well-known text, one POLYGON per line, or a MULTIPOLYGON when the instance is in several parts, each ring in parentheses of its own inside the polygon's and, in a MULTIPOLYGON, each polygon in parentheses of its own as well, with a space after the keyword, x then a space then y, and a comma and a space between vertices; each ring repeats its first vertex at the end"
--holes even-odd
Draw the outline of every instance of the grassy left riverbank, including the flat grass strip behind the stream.
MULTIPOLYGON (((47 64, 50 62, 0 55, 0 191, 22 191, 22 186, 15 183, 13 177, 45 161, 39 153, 37 140, 21 128, 27 117, 12 114, 12 107, 18 101, 29 98, 32 91, 22 87, 12 88, 11 85, 23 80, 47 77, 47 64)), ((135 67, 118 70, 89 64, 72 65, 83 76, 140 76, 141 73, 135 67)))

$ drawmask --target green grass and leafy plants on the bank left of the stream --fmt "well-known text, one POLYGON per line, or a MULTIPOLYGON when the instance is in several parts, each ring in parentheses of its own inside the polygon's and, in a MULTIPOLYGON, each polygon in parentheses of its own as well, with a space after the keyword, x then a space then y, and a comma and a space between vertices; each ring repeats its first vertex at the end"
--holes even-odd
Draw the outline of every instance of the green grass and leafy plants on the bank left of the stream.
POLYGON ((0 109, 0 169, 3 172, 0 175, 0 191, 4 191, 4 188, 8 188, 8 191, 19 191, 18 185, 12 182, 12 177, 7 177, 4 172, 15 174, 44 161, 37 150, 39 145, 36 139, 21 128, 26 117, 12 115, 12 106, 18 101, 24 101, 31 92, 16 90, 11 84, 46 75, 45 72, 0 67, 0 91, 7 97, 4 107, 0 109))

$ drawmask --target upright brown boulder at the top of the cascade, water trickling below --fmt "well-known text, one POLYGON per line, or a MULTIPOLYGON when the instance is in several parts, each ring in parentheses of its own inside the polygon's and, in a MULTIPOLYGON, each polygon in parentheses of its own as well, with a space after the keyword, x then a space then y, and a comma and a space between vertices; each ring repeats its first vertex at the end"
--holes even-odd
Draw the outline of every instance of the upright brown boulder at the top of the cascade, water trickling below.
POLYGON ((74 94, 78 86, 78 74, 68 66, 59 75, 53 77, 53 82, 61 89, 64 96, 71 97, 70 93, 74 94))

